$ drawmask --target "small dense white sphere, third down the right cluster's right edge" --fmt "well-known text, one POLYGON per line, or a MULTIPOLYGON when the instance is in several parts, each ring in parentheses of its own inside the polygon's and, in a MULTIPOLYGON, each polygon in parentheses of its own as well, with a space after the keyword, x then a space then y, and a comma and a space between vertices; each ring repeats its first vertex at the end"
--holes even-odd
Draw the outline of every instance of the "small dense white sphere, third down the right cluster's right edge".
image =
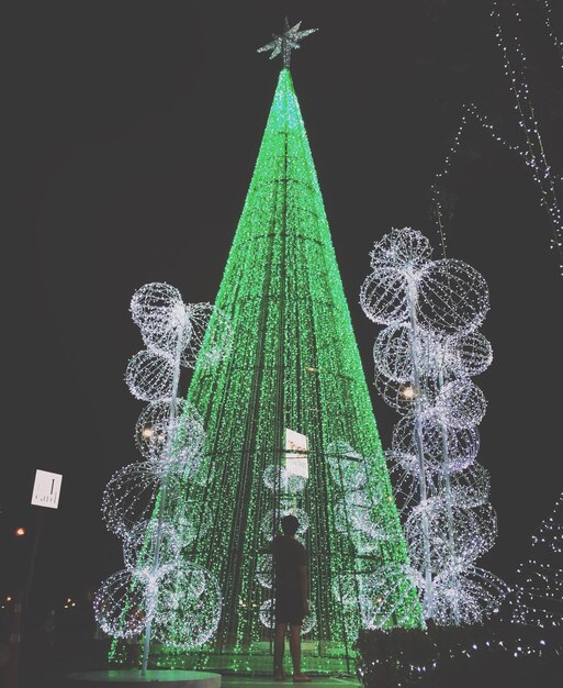
POLYGON ((485 395, 470 379, 447 382, 436 400, 436 412, 450 428, 473 428, 485 415, 485 395))

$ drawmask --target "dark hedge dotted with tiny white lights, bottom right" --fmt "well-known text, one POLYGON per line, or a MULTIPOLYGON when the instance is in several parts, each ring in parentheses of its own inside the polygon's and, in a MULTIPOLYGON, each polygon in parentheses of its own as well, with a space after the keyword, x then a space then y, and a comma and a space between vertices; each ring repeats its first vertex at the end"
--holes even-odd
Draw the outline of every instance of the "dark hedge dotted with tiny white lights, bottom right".
POLYGON ((551 688, 561 686, 561 634, 530 626, 363 631, 359 676, 365 688, 551 688))

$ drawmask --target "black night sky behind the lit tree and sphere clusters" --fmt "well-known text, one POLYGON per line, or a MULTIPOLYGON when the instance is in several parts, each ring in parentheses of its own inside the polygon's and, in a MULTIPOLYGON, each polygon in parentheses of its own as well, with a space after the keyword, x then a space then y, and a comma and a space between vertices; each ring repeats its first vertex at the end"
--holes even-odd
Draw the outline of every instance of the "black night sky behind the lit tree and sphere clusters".
MULTIPOLYGON (((561 57, 542 3, 519 4, 547 155, 563 173, 561 57)), ((552 5, 561 36, 563 7, 552 5)), ((142 348, 131 296, 168 281, 185 301, 215 299, 280 68, 256 48, 284 14, 319 27, 294 54, 292 74, 371 382, 380 328, 358 295, 373 242, 408 225, 439 257, 430 186, 462 102, 518 136, 489 9, 484 0, 83 0, 4 11, 0 592, 13 589, 31 545, 36 468, 64 482, 60 508, 44 513, 35 599, 78 595, 122 567, 100 506, 112 473, 137 458, 144 404, 123 379, 142 348), (15 542, 21 523, 30 536, 15 542)), ((563 204, 561 185, 559 192, 563 204)), ((563 486, 563 278, 529 170, 475 124, 444 198, 448 255, 473 265, 491 289, 483 332, 495 359, 475 381, 488 399, 478 460, 491 471, 499 537, 481 562, 510 580, 563 486)), ((398 415, 370 388, 389 446, 398 415)))

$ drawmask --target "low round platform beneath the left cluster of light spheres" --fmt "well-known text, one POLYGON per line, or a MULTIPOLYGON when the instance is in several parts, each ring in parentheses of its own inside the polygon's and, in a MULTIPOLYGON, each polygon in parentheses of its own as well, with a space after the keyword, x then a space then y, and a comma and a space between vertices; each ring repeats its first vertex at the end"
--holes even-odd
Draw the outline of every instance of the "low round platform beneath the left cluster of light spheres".
POLYGON ((184 672, 149 669, 145 676, 139 669, 122 669, 110 672, 85 672, 70 674, 66 678, 67 685, 78 688, 136 688, 148 684, 161 684, 166 688, 221 688, 221 675, 209 672, 184 672))

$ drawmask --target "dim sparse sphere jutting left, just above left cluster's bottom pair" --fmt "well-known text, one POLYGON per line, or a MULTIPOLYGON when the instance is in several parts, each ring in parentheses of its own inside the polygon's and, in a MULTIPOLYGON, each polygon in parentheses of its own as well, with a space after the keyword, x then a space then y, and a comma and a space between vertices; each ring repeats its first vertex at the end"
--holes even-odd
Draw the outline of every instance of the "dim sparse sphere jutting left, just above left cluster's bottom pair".
POLYGON ((117 470, 105 486, 102 515, 108 530, 125 537, 155 508, 159 480, 149 463, 130 464, 117 470))

